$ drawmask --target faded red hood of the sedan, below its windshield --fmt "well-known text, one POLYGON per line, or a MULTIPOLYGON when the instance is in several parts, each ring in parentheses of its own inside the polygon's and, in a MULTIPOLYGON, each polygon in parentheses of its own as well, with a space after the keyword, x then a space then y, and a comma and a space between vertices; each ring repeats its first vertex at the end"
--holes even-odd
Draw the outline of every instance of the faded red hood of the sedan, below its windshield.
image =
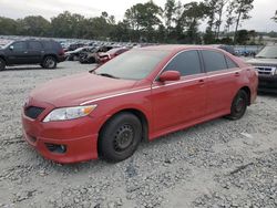
POLYGON ((126 92, 137 81, 117 80, 89 72, 47 82, 30 93, 30 100, 55 107, 80 105, 83 102, 126 92))

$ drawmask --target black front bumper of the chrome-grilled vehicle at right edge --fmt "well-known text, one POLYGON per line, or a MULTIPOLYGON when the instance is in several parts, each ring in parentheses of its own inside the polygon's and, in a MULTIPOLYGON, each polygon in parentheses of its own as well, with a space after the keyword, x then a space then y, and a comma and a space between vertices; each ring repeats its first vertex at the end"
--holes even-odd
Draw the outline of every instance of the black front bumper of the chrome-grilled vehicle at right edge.
POLYGON ((258 91, 277 93, 277 75, 259 74, 258 79, 259 79, 258 91))

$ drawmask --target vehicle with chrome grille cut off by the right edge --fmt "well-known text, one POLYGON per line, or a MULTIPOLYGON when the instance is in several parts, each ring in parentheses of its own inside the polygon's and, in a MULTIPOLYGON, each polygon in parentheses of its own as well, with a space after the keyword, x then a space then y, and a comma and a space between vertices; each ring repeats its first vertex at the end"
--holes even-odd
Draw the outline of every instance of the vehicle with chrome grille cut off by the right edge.
POLYGON ((277 93, 277 45, 265 46, 247 63, 254 65, 258 72, 258 91, 277 93))

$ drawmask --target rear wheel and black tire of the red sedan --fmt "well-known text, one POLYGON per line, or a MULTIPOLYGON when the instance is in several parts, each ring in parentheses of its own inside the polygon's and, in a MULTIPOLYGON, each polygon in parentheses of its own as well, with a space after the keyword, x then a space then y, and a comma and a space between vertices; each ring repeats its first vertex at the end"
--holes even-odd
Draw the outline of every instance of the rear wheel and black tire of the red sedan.
POLYGON ((239 119, 244 116, 248 104, 248 95, 245 91, 240 90, 232 102, 230 114, 227 116, 229 119, 239 119))

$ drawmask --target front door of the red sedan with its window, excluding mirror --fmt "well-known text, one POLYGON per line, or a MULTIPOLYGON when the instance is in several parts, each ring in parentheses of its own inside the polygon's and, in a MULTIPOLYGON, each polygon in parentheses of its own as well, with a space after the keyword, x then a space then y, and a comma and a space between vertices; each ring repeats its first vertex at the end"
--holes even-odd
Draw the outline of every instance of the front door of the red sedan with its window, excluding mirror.
POLYGON ((152 104, 155 131, 178 124, 192 123, 206 113, 205 73, 196 50, 178 53, 164 69, 178 71, 179 81, 152 85, 152 104))

